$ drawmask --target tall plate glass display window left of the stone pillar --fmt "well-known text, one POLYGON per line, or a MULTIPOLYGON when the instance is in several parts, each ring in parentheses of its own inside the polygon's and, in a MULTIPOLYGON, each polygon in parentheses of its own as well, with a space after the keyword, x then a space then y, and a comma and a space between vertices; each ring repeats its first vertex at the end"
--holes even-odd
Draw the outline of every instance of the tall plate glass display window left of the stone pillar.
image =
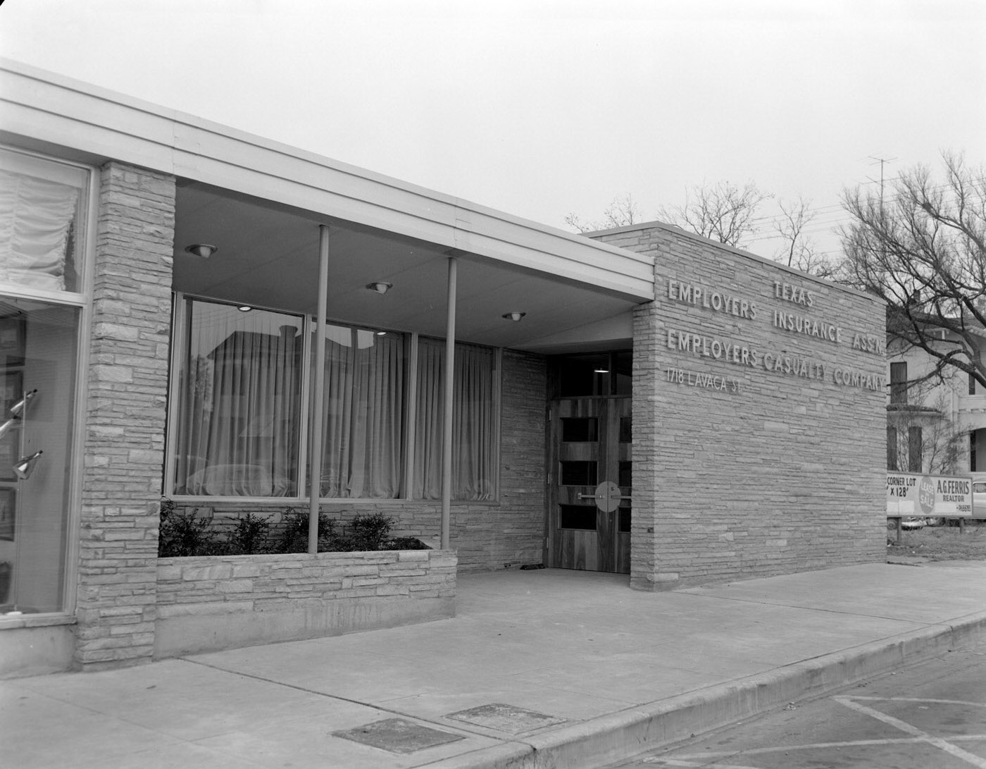
POLYGON ((0 615, 69 603, 90 179, 0 149, 0 615))

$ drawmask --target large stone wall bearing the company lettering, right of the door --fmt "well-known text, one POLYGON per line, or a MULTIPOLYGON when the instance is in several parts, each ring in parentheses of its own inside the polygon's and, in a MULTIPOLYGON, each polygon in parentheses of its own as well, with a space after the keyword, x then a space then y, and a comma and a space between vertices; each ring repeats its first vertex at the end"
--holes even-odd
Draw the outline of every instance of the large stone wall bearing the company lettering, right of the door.
POLYGON ((664 225, 594 237, 656 260, 657 299, 634 315, 631 584, 882 560, 882 305, 664 225), (670 281, 736 297, 738 314, 669 298, 670 281), (810 307, 791 300, 807 302, 802 289, 810 307), (755 304, 755 318, 742 317, 741 301, 755 304), (775 310, 839 327, 841 342, 774 328, 775 310), (698 342, 681 349, 687 334, 698 342), (856 335, 875 349, 854 348, 856 335), (724 348, 715 357, 713 341, 739 346, 740 360, 745 347, 747 363, 728 362, 724 348), (785 356, 804 360, 805 375, 785 372, 785 356), (842 370, 872 387, 842 384, 842 370))

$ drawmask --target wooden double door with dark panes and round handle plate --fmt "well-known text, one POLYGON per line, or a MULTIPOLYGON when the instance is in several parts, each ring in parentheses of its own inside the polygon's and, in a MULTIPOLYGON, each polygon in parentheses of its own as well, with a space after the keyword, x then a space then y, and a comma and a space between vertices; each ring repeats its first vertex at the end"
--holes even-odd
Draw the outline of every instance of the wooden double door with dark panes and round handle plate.
POLYGON ((630 573, 630 399, 552 402, 547 565, 630 573))

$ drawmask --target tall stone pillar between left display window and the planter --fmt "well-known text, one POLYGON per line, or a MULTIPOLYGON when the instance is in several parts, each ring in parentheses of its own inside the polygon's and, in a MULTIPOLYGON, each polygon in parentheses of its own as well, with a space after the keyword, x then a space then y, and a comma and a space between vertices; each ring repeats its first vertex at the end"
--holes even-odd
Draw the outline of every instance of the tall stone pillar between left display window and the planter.
POLYGON ((75 662, 87 669, 154 649, 174 240, 174 178, 106 164, 84 373, 75 662))

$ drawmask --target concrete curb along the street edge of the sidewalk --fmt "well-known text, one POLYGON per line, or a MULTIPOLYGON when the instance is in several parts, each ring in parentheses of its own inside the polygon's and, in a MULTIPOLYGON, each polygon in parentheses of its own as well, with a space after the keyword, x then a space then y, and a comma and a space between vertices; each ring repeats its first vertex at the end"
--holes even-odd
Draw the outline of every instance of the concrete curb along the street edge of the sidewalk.
POLYGON ((503 742, 420 766, 434 769, 594 769, 735 724, 780 704, 818 696, 923 656, 959 648, 986 632, 986 612, 834 654, 629 708, 571 727, 503 742))

